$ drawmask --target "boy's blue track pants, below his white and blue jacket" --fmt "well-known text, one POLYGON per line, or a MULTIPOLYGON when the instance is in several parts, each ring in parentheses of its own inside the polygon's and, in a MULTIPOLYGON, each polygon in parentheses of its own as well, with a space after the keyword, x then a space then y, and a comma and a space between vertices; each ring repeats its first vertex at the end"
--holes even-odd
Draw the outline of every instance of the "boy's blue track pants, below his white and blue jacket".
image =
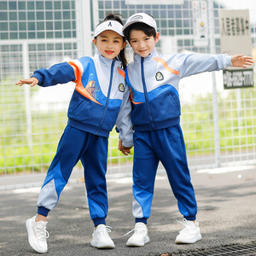
POLYGON ((136 222, 147 223, 154 195, 159 161, 166 169, 177 206, 184 218, 195 220, 197 205, 190 182, 183 132, 180 125, 155 131, 135 131, 132 213, 136 222))

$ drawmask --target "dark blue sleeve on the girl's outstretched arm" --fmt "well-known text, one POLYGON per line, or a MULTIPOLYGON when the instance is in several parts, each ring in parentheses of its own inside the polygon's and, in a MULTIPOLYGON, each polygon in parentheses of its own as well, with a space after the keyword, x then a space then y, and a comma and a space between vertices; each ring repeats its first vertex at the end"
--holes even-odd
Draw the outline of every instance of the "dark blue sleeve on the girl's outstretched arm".
POLYGON ((76 79, 73 67, 67 62, 55 64, 49 69, 38 69, 32 74, 32 77, 38 79, 38 85, 43 87, 65 84, 76 79))

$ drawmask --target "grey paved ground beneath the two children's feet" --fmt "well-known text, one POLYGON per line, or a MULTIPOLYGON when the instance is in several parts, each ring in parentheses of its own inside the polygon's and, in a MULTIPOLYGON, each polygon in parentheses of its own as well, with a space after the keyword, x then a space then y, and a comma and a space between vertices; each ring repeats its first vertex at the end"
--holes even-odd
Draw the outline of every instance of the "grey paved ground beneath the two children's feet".
MULTIPOLYGON (((131 177, 108 179, 107 222, 113 228, 110 236, 116 245, 112 250, 90 247, 93 224, 84 207, 84 183, 69 183, 57 207, 49 213, 49 253, 46 255, 177 255, 256 241, 256 170, 255 166, 246 168, 191 173, 203 237, 192 245, 174 243, 178 231, 183 229, 176 219, 182 221, 182 216, 165 174, 158 175, 155 182, 152 214, 148 219, 150 242, 144 247, 126 247, 130 235, 123 236, 134 227, 131 177)), ((38 189, 0 191, 0 255, 38 254, 29 246, 25 228, 26 218, 36 212, 38 189)))

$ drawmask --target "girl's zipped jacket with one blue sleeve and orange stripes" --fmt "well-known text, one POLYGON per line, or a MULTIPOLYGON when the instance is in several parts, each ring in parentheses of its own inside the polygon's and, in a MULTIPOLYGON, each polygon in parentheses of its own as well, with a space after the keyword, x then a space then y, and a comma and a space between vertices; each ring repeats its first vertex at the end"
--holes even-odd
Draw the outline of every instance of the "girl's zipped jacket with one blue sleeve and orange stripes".
POLYGON ((120 61, 108 60, 97 52, 94 57, 61 62, 49 70, 38 69, 32 77, 37 78, 38 85, 43 87, 75 82, 67 125, 102 137, 108 137, 113 125, 117 125, 124 145, 130 147, 131 104, 125 72, 119 65, 120 61))

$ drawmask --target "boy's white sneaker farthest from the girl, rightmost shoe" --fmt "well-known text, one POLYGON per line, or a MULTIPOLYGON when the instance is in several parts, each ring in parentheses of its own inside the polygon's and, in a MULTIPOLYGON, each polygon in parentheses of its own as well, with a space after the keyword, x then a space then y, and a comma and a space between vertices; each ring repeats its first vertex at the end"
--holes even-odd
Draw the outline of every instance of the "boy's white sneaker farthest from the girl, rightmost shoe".
MULTIPOLYGON (((178 221, 179 222, 179 221, 178 221)), ((181 223, 181 222, 179 222, 181 223)), ((198 222, 183 219, 185 227, 179 231, 179 235, 176 237, 176 243, 195 243, 195 241, 201 240, 200 228, 198 222)))

